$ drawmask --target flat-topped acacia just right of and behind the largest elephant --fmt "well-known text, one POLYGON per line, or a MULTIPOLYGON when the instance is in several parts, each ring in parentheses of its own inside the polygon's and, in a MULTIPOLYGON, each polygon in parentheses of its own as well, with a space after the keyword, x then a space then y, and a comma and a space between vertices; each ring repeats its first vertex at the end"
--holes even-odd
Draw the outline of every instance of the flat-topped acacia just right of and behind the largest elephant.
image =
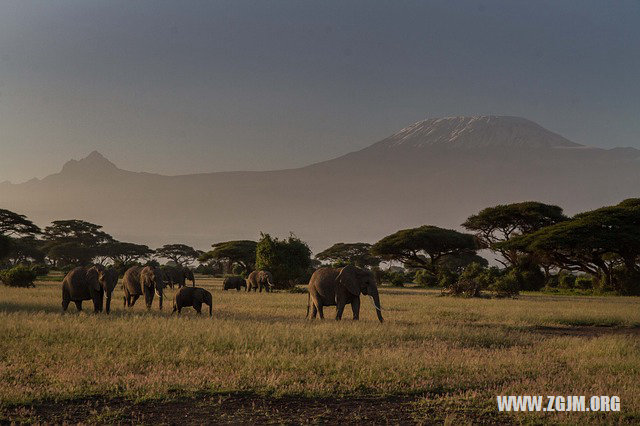
POLYGON ((475 253, 477 249, 477 240, 471 234, 425 225, 384 237, 373 245, 371 253, 409 267, 423 268, 435 276, 443 257, 475 253))

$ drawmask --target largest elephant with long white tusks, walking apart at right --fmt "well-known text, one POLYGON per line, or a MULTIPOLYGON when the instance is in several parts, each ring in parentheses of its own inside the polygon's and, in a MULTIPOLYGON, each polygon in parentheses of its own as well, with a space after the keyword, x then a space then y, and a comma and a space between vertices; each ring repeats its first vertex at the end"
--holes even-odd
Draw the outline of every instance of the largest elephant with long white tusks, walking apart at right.
POLYGON ((311 306, 311 319, 320 315, 324 318, 324 306, 336 306, 336 320, 342 319, 344 307, 351 305, 353 319, 360 317, 360 294, 373 298, 373 305, 378 314, 378 320, 383 322, 380 296, 373 272, 354 266, 344 268, 320 268, 309 280, 309 294, 307 296, 307 318, 311 306))

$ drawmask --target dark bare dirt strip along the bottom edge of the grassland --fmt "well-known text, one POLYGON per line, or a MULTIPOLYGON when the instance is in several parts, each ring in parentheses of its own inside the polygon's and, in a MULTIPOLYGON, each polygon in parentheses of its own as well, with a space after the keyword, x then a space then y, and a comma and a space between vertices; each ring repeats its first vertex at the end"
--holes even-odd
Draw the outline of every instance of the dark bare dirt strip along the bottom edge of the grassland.
MULTIPOLYGON (((220 395, 132 403, 92 398, 2 410, 2 423, 421 424, 415 398, 307 399, 220 395)), ((432 418, 435 420, 435 418, 432 418)))

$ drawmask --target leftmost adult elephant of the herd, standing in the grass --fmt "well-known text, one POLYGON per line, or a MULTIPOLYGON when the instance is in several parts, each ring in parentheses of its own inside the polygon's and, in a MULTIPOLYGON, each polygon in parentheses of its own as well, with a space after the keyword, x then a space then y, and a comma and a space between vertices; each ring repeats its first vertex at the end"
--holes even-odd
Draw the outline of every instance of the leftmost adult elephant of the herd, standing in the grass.
POLYGON ((111 295, 118 283, 118 272, 102 265, 74 268, 62 281, 62 310, 66 311, 70 302, 82 310, 83 300, 93 301, 93 311, 102 312, 104 296, 107 296, 106 312, 111 312, 111 295))

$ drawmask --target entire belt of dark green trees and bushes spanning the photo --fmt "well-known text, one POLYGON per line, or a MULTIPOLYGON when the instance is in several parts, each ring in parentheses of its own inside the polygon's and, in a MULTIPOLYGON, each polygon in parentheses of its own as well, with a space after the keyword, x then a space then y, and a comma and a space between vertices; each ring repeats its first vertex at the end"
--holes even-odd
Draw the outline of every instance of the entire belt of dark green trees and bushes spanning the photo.
MULTIPOLYGON (((462 296, 540 290, 640 294, 640 199, 574 217, 540 202, 498 205, 471 215, 462 227, 469 233, 424 225, 373 245, 336 243, 312 259, 308 245, 293 234, 218 242, 208 252, 179 243, 152 250, 116 241, 100 225, 82 220, 58 220, 42 230, 24 215, 0 210, 0 266, 40 274, 100 263, 113 264, 122 273, 165 259, 180 266, 199 262, 196 272, 217 276, 246 277, 254 269, 266 269, 279 288, 291 288, 306 283, 325 262, 372 269, 379 281, 395 286, 414 283, 462 296), (494 266, 479 255, 488 252, 494 266), (401 266, 390 266, 394 263, 401 266)), ((18 272, 12 274, 3 273, 5 284, 33 281, 24 273, 20 280, 11 279, 18 272)))

